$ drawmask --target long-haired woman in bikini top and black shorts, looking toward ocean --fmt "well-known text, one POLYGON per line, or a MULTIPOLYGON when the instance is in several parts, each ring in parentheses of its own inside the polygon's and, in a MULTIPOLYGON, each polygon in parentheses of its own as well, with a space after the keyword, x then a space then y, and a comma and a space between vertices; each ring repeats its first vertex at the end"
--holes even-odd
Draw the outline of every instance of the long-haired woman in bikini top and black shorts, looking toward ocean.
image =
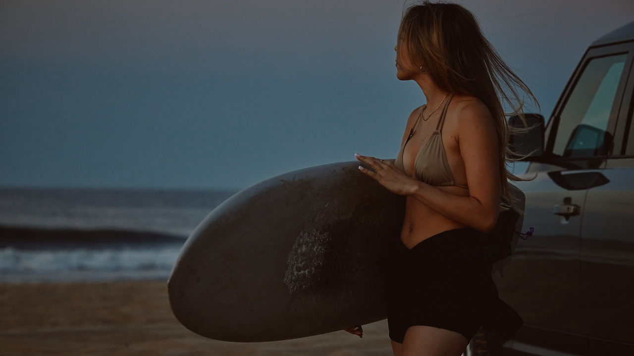
POLYGON ((371 168, 361 172, 406 196, 388 281, 392 348, 460 355, 479 327, 508 338, 522 324, 498 298, 480 239, 495 227, 501 201, 512 205, 507 178, 517 180, 506 170, 499 98, 514 114, 522 113, 517 89, 535 99, 460 5, 410 6, 394 49, 396 76, 417 82, 427 104, 411 112, 394 163, 355 155, 371 168))

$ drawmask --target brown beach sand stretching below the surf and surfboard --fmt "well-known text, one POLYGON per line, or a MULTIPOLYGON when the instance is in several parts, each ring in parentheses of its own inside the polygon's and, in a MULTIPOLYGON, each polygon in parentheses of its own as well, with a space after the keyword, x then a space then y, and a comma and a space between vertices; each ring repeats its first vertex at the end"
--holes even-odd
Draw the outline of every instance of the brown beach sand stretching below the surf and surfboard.
POLYGON ((163 281, 0 284, 0 355, 391 355, 387 321, 267 343, 230 343, 176 321, 163 281))

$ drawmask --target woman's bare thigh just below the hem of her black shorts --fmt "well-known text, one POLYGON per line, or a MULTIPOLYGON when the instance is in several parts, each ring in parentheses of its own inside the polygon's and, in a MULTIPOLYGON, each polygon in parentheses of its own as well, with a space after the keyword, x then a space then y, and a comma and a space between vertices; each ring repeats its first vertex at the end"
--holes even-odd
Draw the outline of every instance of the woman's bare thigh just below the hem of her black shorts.
POLYGON ((460 356, 469 341, 460 333, 433 326, 410 326, 403 343, 392 341, 394 356, 460 356))

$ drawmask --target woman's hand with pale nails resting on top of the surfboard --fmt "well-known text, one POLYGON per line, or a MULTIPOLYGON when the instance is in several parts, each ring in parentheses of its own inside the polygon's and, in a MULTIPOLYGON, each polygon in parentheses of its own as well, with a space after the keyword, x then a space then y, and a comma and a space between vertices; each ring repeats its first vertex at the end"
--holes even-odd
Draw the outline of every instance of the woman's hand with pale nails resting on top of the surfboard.
POLYGON ((359 166, 359 170, 375 179, 379 184, 387 188, 392 193, 399 195, 411 195, 418 188, 418 182, 404 175, 392 161, 379 160, 370 156, 361 156, 355 153, 354 156, 359 161, 368 164, 372 170, 359 166))

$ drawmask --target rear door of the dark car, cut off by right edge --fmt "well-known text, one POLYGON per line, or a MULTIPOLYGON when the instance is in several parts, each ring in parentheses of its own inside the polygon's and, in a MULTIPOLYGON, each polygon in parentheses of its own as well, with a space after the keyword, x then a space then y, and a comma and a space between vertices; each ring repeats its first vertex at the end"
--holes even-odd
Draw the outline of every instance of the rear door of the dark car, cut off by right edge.
MULTIPOLYGON (((581 295, 590 354, 634 355, 634 127, 631 62, 634 42, 615 46, 625 56, 611 115, 614 147, 600 184, 588 189, 581 227, 581 295), (626 345, 626 344, 629 344, 626 345)), ((613 68, 614 80, 618 68, 613 68)), ((607 98, 605 105, 608 104, 607 98)), ((607 106, 606 106, 607 110, 607 106)))

